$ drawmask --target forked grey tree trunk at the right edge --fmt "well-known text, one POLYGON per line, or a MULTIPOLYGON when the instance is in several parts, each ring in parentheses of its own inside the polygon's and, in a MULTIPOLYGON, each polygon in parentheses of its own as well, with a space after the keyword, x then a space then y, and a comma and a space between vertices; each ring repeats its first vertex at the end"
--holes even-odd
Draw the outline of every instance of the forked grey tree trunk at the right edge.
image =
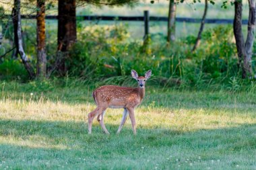
POLYGON ((253 50, 254 30, 255 30, 255 0, 249 1, 249 21, 247 40, 245 42, 242 32, 242 11, 243 4, 240 0, 234 2, 234 38, 236 39, 236 49, 238 52, 239 66, 242 69, 242 78, 249 78, 253 74, 251 69, 251 55, 253 50))

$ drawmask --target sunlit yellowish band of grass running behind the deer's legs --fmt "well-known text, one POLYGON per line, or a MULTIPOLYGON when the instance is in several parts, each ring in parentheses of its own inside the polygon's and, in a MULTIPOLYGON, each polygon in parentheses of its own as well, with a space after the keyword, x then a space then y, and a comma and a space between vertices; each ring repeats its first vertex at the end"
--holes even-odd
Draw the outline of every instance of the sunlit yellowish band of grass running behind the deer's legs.
MULTIPOLYGON (((88 113, 96 108, 95 104, 85 102, 69 104, 62 101, 26 101, 0 100, 1 119, 11 120, 45 120, 45 121, 88 121, 88 113)), ((255 105, 236 104, 219 105, 218 108, 172 109, 150 108, 141 106, 136 110, 137 126, 142 128, 167 128, 172 130, 198 130, 201 128, 222 128, 239 124, 254 124, 253 111, 245 114, 243 108, 253 109, 255 105), (241 114, 243 111, 243 114, 241 114), (251 118, 253 116, 253 118, 251 118)), ((121 121, 122 109, 108 109, 106 124, 118 126, 121 121)), ((98 122, 94 121, 94 125, 98 122)), ((130 122, 127 121, 128 126, 130 122)))

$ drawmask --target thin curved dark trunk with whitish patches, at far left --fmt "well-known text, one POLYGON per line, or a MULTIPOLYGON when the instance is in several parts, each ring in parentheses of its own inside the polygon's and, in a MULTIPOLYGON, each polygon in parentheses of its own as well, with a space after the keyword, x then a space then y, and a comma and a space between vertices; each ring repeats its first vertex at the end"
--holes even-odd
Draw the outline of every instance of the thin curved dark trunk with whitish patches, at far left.
POLYGON ((20 0, 14 0, 14 11, 15 10, 16 10, 16 16, 14 15, 13 17, 16 17, 17 20, 14 20, 15 24, 13 23, 13 25, 17 27, 17 28, 14 28, 14 36, 17 36, 17 39, 18 39, 18 42, 15 42, 16 48, 18 49, 18 53, 22 58, 22 62, 24 64, 26 71, 28 71, 28 76, 30 77, 30 79, 33 79, 35 76, 34 70, 30 65, 30 62, 28 61, 28 57, 24 52, 24 48, 22 44, 22 21, 20 17, 20 0))

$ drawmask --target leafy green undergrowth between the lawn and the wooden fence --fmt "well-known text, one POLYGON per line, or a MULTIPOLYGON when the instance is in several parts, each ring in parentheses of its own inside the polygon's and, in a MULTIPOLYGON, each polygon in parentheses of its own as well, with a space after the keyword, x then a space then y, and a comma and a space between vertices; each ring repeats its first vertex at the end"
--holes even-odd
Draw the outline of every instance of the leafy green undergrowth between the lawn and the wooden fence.
MULTIPOLYGON (((200 89, 206 85, 221 89, 230 88, 231 77, 240 80, 236 46, 230 26, 205 30, 201 44, 195 52, 191 52, 195 36, 187 36, 174 44, 166 44, 162 34, 151 34, 147 48, 143 50, 145 43, 143 40, 130 38, 128 25, 83 26, 82 21, 79 21, 78 26, 77 43, 71 48, 69 58, 66 60, 69 79, 73 77, 86 82, 98 81, 99 85, 104 83, 133 85, 129 79, 131 69, 135 69, 139 75, 152 69, 153 76, 149 83, 163 87, 200 89)), ((28 57, 35 67, 36 36, 33 29, 34 24, 24 29, 24 44, 28 57)), ((56 30, 47 32, 46 52, 49 66, 53 65, 57 58, 56 34, 56 30)), ((12 60, 10 54, 4 61, 7 63, 9 60, 12 60)), ((19 65, 19 68, 22 68, 20 64, 20 61, 15 61, 11 67, 19 65)), ((252 65, 255 68, 254 58, 252 65)), ((6 64, 1 65, 2 70, 5 67, 6 64)), ((13 71, 8 74, 20 77, 20 73, 22 72, 13 71)), ((26 79, 25 77, 22 79, 26 79)), ((233 89, 229 90, 233 91, 233 89)))

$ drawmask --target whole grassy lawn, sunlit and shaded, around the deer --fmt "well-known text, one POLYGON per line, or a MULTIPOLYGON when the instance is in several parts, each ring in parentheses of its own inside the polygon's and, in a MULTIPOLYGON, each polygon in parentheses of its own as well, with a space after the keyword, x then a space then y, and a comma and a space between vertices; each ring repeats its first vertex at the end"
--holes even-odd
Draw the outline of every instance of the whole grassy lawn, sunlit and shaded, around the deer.
POLYGON ((256 169, 255 93, 148 87, 137 136, 121 109, 88 135, 91 93, 1 83, 0 169, 256 169))

